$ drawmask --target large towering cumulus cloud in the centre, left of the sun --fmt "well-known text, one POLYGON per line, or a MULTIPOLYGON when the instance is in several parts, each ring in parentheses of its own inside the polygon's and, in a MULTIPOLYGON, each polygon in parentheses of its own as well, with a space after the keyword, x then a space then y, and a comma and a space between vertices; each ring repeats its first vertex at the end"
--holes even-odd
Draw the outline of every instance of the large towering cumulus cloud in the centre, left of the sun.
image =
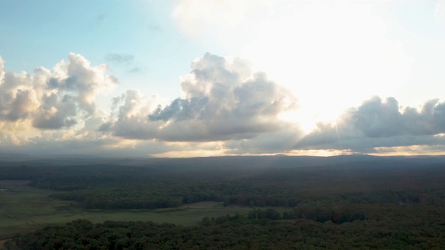
MULTIPOLYGON (((278 115, 295 108, 296 99, 266 74, 254 73, 240 59, 206 53, 191 64, 181 83, 183 97, 167 106, 151 106, 140 93, 116 99, 118 116, 104 124, 123 138, 171 142, 239 140, 279 131, 278 115)), ((298 130, 292 133, 299 133, 298 130)))

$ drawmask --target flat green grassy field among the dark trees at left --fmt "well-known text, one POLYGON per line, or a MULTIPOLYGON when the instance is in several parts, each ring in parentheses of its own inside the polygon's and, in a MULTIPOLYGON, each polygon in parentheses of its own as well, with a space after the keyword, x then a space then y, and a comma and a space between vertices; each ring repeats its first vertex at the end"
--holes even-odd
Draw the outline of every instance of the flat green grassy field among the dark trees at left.
POLYGON ((252 208, 224 207, 218 202, 198 202, 180 208, 157 210, 84 210, 73 201, 49 198, 55 191, 33 188, 28 181, 0 181, 0 240, 15 233, 32 231, 47 224, 88 219, 91 222, 152 221, 191 226, 202 217, 220 217, 227 214, 245 214, 252 208))

